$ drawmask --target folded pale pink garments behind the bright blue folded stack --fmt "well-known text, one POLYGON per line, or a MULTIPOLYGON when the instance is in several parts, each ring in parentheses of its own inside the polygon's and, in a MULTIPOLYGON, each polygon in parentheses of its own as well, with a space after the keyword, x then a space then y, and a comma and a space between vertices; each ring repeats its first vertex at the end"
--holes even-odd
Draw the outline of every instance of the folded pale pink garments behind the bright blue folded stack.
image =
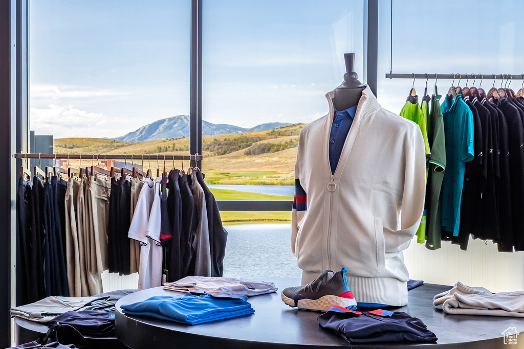
POLYGON ((213 295, 257 296, 275 292, 274 283, 232 277, 187 276, 174 283, 165 283, 163 289, 177 292, 201 290, 213 295))

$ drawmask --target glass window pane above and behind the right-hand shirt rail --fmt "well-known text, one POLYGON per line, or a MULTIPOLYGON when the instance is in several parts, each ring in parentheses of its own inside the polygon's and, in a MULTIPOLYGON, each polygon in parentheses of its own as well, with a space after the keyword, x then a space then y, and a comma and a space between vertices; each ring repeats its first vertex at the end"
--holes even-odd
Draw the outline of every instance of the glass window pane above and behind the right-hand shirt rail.
MULTIPOLYGON (((461 86, 466 83, 465 73, 470 74, 471 86, 473 73, 486 77, 486 74, 524 72, 524 46, 519 33, 524 3, 512 0, 493 6, 484 1, 395 0, 392 4, 392 55, 391 2, 380 2, 379 11, 377 94, 383 107, 400 112, 413 83, 409 79, 384 79, 390 65, 394 73, 460 73, 461 86)), ((456 77, 455 86, 459 75, 456 77)), ((496 87, 500 87, 499 77, 496 87)), ((430 95, 434 83, 434 79, 428 81, 430 95)), ((439 94, 447 93, 451 83, 452 80, 439 79, 439 94)), ((479 83, 477 75, 475 86, 479 83)), ((517 91, 521 83, 514 81, 511 87, 517 91)), ((486 92, 492 86, 493 80, 482 83, 486 92)), ((414 87, 423 95, 425 80, 415 81, 414 87)))

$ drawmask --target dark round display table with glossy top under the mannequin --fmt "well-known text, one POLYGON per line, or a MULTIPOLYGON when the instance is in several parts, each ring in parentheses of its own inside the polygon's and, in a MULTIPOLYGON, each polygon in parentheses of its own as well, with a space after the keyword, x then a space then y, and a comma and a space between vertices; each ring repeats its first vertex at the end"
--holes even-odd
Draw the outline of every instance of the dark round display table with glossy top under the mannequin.
MULTIPOLYGON (((125 296, 116 303, 115 327, 117 338, 133 349, 151 348, 327 348, 337 346, 387 348, 399 343, 354 345, 337 334, 321 328, 316 321, 319 312, 288 307, 280 299, 280 290, 300 284, 299 278, 265 279, 279 288, 268 295, 249 297, 254 314, 199 325, 185 325, 148 317, 128 316, 121 305, 143 301, 152 296, 176 295, 156 287, 125 296)), ((524 332, 524 318, 467 316, 446 314, 433 306, 433 296, 452 286, 424 284, 409 291, 407 306, 391 309, 404 311, 420 318, 439 338, 439 348, 506 348, 502 334, 515 327, 524 332), (458 345, 457 345, 458 344, 458 345)), ((511 348, 524 347, 524 336, 511 348)), ((414 344, 411 346, 428 346, 414 344)), ((401 346, 406 346, 405 344, 401 346)))

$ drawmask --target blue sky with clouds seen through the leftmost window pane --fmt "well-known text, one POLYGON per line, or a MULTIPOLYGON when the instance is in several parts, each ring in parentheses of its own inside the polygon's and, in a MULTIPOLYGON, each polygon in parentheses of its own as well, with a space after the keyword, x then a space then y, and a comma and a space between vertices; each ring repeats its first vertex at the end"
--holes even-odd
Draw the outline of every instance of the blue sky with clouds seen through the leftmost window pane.
POLYGON ((115 139, 189 115, 189 1, 31 1, 30 14, 37 134, 115 139))

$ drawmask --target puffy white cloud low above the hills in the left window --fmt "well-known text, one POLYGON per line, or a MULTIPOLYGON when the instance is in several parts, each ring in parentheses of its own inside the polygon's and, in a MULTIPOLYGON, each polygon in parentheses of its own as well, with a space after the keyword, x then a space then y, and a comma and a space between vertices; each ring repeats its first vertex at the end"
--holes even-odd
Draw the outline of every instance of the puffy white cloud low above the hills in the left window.
POLYGON ((31 108, 30 120, 31 130, 36 134, 52 134, 54 138, 107 137, 119 133, 117 120, 74 106, 50 104, 48 108, 31 108))

